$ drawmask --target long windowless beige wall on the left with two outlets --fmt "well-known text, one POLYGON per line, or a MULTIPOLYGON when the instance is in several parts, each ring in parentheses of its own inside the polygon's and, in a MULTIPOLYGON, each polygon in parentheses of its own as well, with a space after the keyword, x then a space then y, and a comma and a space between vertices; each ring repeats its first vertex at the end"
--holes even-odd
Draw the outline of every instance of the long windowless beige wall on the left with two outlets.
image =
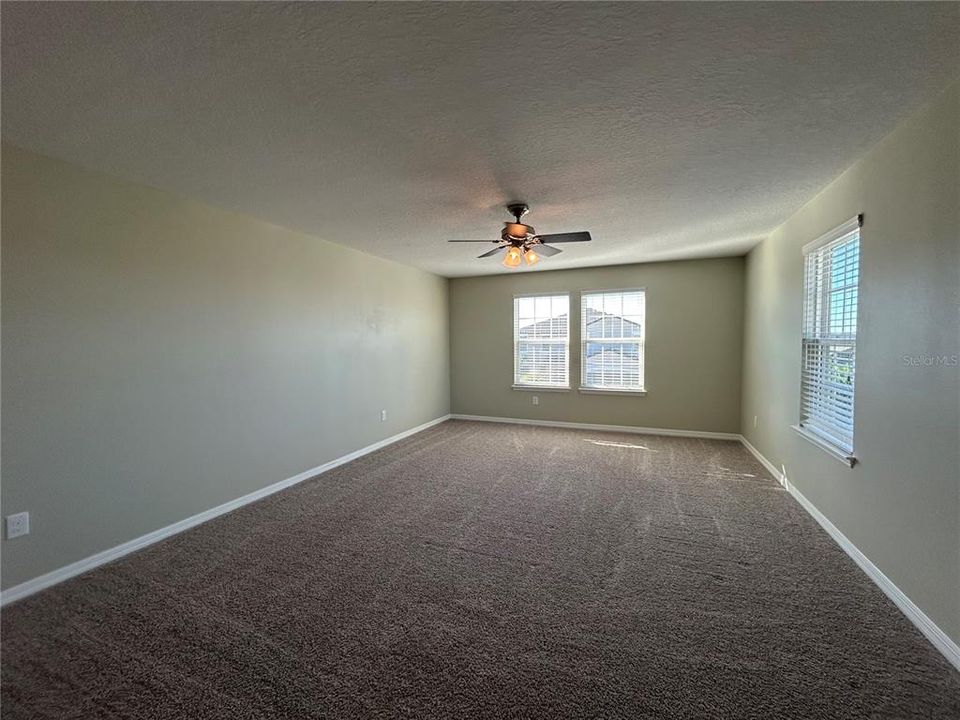
POLYGON ((3 587, 448 412, 446 280, 2 160, 3 587))

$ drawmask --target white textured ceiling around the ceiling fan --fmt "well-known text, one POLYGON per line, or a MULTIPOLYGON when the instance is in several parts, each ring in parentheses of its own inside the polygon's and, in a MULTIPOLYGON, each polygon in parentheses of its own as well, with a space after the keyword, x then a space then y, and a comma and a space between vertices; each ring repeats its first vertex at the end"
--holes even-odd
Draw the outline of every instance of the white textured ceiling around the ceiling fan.
POLYGON ((742 254, 960 73, 960 4, 10 3, 3 134, 448 276, 742 254))

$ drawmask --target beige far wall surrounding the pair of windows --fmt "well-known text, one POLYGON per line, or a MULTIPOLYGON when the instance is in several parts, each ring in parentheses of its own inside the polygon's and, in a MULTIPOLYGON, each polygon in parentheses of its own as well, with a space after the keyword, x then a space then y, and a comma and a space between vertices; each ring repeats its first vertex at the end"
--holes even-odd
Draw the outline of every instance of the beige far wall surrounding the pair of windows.
MULTIPOLYGON (((477 262, 480 262, 479 260, 477 262)), ((549 262, 545 260, 544 262, 549 262)), ((743 258, 512 272, 450 281, 455 413, 739 432, 743 258), (646 288, 647 395, 583 394, 581 290, 646 288), (569 291, 569 392, 514 390, 513 296, 569 291), (540 405, 531 402, 533 395, 540 405)))

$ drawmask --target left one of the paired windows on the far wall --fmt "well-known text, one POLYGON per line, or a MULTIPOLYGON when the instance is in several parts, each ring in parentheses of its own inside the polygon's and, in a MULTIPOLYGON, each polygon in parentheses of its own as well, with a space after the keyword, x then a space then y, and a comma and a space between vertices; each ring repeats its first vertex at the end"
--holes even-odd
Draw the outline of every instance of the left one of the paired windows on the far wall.
POLYGON ((513 299, 513 384, 566 388, 569 379, 570 296, 513 299))

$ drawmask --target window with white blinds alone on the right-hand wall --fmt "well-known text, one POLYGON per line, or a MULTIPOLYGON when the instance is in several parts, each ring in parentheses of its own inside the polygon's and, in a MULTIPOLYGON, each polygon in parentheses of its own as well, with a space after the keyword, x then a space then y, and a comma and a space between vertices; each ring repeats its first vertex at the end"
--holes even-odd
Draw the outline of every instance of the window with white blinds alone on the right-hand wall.
POLYGON ((803 249, 800 427, 853 454, 860 218, 803 249))

